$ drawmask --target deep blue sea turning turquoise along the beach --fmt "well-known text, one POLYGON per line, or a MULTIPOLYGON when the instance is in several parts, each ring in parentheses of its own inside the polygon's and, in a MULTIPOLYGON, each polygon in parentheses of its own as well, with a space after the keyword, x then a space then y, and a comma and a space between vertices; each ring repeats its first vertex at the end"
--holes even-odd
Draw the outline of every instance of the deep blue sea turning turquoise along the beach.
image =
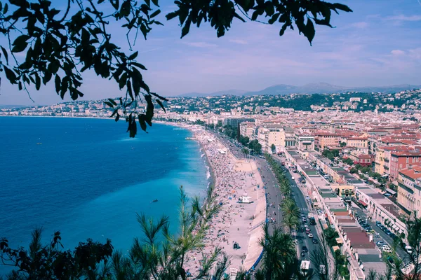
POLYGON ((127 253, 142 237, 141 213, 168 216, 177 232, 179 188, 206 195, 206 157, 189 130, 154 123, 131 139, 126 129, 104 119, 0 117, 0 237, 27 248, 42 227, 44 242, 60 231, 66 249, 111 239, 127 253))

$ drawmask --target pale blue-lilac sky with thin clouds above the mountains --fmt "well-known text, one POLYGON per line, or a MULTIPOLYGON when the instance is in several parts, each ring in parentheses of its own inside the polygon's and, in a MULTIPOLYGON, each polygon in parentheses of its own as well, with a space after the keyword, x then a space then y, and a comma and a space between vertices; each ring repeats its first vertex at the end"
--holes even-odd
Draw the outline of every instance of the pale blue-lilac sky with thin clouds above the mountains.
MULTIPOLYGON (((335 28, 316 25, 311 46, 296 30, 288 29, 279 36, 279 23, 263 25, 235 19, 222 38, 203 22, 180 39, 178 20, 164 18, 176 10, 175 4, 160 0, 162 13, 157 19, 164 26, 154 27, 147 41, 139 37, 133 51, 139 52, 138 61, 148 69, 142 72, 145 82, 164 96, 319 82, 349 87, 421 85, 421 0, 336 1, 354 12, 333 15, 330 23, 335 28)), ((57 5, 64 8, 65 1, 57 1, 57 5)), ((110 30, 114 40, 128 50, 121 27, 112 25, 110 30)), ((0 38, 0 43, 4 45, 5 39, 0 38)), ((29 88, 32 103, 26 92, 7 83, 4 72, 0 77, 0 104, 61 101, 54 85, 47 85, 39 91, 29 88)), ((93 71, 83 74, 81 91, 84 100, 125 94, 93 71)))

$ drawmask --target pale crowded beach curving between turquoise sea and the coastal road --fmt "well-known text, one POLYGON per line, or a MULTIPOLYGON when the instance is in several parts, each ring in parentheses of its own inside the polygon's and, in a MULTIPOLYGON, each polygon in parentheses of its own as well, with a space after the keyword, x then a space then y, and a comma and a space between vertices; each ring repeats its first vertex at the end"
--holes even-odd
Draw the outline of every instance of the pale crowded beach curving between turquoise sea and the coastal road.
POLYGON ((210 132, 190 129, 206 153, 214 191, 222 208, 210 222, 203 250, 187 255, 187 268, 196 274, 201 267, 202 253, 209 254, 219 246, 230 257, 230 272, 250 269, 262 252, 259 241, 266 221, 265 189, 258 167, 254 160, 235 158, 210 132), (248 197, 252 203, 239 203, 241 196, 248 197))

